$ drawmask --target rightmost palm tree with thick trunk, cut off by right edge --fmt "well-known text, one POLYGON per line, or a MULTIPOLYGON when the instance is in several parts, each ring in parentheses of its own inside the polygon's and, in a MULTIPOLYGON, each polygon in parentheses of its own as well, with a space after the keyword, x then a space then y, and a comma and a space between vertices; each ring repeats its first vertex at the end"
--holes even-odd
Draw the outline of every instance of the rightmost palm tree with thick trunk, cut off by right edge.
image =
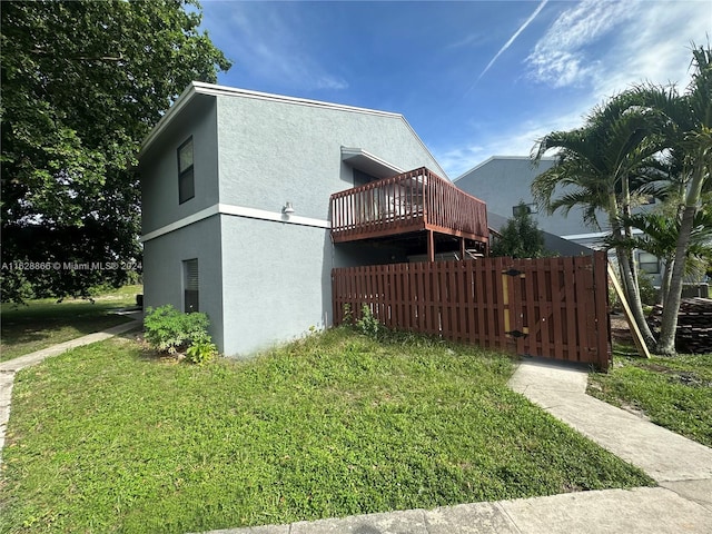
POLYGON ((694 71, 682 96, 674 88, 665 90, 655 86, 639 87, 632 91, 636 106, 664 117, 666 147, 681 168, 684 201, 680 210, 680 231, 656 347, 657 353, 668 355, 675 353, 685 261, 702 192, 710 187, 712 175, 712 50, 709 44, 706 48, 694 48, 692 56, 694 71))

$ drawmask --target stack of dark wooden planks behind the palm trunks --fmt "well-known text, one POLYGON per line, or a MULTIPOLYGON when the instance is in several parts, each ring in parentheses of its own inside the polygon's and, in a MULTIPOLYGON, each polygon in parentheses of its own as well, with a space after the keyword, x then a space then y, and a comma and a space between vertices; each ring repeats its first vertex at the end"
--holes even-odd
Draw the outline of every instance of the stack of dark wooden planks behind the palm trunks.
MULTIPOLYGON (((660 332, 663 308, 653 308, 649 323, 660 332)), ((712 299, 683 298, 678 315, 675 348, 679 353, 712 353, 712 299)))

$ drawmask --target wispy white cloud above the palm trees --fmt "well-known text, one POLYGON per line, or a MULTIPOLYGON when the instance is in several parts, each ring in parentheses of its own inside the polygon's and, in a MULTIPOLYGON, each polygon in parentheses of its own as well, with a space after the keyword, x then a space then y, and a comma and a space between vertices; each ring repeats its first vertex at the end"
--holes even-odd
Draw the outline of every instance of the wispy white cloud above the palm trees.
POLYGON ((565 9, 527 57, 530 77, 593 90, 599 101, 632 83, 689 81, 690 42, 706 42, 702 1, 585 0, 565 9))

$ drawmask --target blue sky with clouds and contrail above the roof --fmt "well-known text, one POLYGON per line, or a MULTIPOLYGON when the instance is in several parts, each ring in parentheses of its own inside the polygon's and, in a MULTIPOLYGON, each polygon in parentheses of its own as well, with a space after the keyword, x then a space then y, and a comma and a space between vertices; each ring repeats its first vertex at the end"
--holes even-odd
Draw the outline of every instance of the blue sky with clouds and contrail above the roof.
POLYGON ((218 82, 394 111, 451 179, 528 156, 632 83, 690 80, 712 0, 202 1, 218 82))

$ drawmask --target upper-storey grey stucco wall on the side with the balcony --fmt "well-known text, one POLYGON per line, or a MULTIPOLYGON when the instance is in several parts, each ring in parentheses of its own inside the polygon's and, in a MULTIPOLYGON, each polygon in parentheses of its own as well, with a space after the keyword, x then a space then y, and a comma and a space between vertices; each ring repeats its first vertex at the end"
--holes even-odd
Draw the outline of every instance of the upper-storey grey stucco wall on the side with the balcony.
POLYGON ((405 119, 248 97, 218 98, 220 202, 328 220, 329 196, 354 186, 340 147, 409 170, 437 161, 405 119))

